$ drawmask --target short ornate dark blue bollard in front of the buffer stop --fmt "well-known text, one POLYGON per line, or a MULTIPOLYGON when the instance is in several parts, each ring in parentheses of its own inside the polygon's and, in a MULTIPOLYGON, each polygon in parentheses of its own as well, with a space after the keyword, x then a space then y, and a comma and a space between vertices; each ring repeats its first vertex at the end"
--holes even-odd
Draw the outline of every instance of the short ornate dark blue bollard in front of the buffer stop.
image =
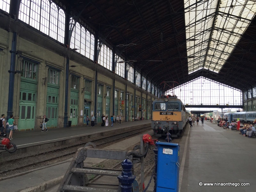
POLYGON ((121 183, 121 192, 132 192, 132 183, 136 176, 132 174, 132 161, 125 159, 122 162, 122 174, 117 178, 121 183))

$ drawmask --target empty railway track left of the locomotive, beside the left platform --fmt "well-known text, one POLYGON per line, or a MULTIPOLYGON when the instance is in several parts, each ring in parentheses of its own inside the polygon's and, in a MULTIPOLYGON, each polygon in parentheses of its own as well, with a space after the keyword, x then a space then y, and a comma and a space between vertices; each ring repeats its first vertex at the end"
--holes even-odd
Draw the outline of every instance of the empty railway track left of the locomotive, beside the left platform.
POLYGON ((14 155, 0 162, 0 170, 2 170, 0 171, 0 177, 2 177, 3 175, 6 176, 6 175, 16 174, 17 172, 23 172, 24 169, 27 169, 27 170, 34 169, 35 165, 44 164, 45 162, 49 163, 52 160, 55 160, 54 163, 56 163, 57 159, 59 158, 62 158, 61 161, 63 161, 63 158, 65 157, 66 159, 69 159, 73 156, 73 154, 76 153, 78 148, 84 147, 84 145, 89 141, 92 141, 97 147, 100 148, 100 146, 104 146, 110 142, 117 142, 120 139, 128 138, 150 129, 151 129, 151 126, 146 126, 130 132, 121 133, 121 134, 117 134, 110 137, 100 138, 97 140, 87 139, 79 143, 75 143, 73 145, 54 148, 54 149, 46 150, 43 152, 26 154, 19 157, 15 157, 14 155))

